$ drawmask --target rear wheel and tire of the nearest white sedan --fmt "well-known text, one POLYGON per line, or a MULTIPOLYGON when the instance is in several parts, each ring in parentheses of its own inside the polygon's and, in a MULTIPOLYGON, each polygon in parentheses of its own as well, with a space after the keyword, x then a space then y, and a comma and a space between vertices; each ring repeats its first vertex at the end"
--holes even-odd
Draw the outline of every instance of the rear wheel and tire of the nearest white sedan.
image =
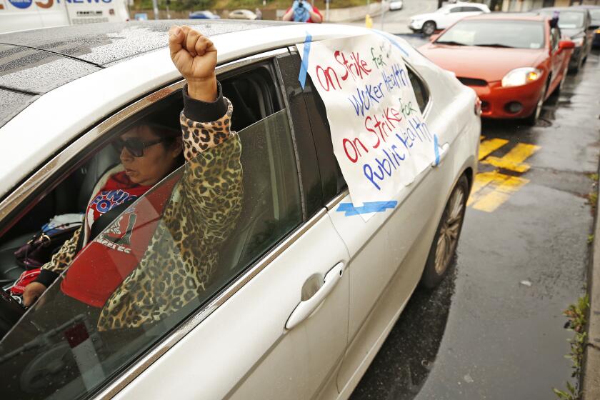
POLYGON ((429 256, 421 276, 421 286, 433 289, 444 278, 454 258, 456 244, 459 243, 468 196, 469 181, 463 175, 452 189, 444 212, 441 214, 434 242, 429 249, 429 256))

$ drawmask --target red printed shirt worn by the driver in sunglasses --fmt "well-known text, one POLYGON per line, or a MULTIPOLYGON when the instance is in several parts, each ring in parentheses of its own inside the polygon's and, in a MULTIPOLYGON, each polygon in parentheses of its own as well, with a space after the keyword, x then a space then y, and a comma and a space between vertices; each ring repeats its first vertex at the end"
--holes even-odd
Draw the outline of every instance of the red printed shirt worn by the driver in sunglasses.
MULTIPOLYGON (((104 214, 109 210, 106 209, 109 202, 112 202, 113 206, 121 204, 128 196, 141 196, 151 187, 135 185, 124 189, 123 176, 124 173, 111 176, 106 186, 99 191, 94 201, 91 201, 88 213, 93 212, 94 216, 96 213, 104 214), (116 189, 117 186, 121 189, 116 189)), ((176 175, 156 186, 156 189, 150 191, 135 206, 129 206, 118 219, 80 251, 66 271, 61 282, 61 291, 90 306, 104 306, 106 300, 131 274, 146 253, 164 206, 169 201, 178 179, 179 176, 176 175)))

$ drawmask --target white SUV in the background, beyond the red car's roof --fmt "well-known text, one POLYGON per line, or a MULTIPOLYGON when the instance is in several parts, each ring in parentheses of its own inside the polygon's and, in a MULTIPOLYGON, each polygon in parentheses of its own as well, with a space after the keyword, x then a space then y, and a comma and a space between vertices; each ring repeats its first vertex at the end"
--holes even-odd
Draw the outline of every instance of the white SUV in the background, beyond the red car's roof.
POLYGON ((414 32, 423 32, 431 35, 437 30, 446 29, 454 22, 466 16, 489 13, 485 4, 458 2, 448 4, 429 14, 417 14, 411 16, 409 28, 414 32))

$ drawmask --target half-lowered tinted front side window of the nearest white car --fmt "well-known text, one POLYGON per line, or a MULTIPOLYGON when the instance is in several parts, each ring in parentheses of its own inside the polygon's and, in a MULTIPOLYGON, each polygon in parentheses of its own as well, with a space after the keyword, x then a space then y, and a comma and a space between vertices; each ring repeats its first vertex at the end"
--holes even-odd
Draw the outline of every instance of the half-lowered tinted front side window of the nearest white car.
POLYGON ((241 110, 236 136, 129 204, 4 336, 3 394, 95 392, 301 224, 288 114, 268 76, 255 69, 223 79, 224 91, 246 101, 231 99, 233 115, 241 110), (256 91, 253 79, 266 86, 256 91))

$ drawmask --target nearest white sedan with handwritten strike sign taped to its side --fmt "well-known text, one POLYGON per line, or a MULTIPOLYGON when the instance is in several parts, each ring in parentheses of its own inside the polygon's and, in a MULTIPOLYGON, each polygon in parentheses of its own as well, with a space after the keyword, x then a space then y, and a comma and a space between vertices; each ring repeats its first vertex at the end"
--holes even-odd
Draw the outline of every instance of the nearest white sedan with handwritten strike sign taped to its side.
MULTIPOLYGON (((84 209, 96 180, 119 162, 111 141, 142 117, 179 124, 184 82, 169 57, 171 24, 0 35, 0 63, 10 66, 0 72, 5 285, 22 271, 11 259, 16 247, 56 214, 84 209)), ((0 291, 4 399, 347 399, 419 281, 434 286, 449 266, 476 174, 474 91, 390 36, 406 52, 414 107, 443 152, 394 196, 394 209, 364 221, 339 210, 351 202, 349 191, 324 104, 310 79, 300 86, 295 44, 307 32, 321 41, 372 31, 281 22, 195 27, 219 49, 216 73, 242 146, 244 204, 214 283, 166 319, 117 331, 99 331, 64 307, 49 314, 64 324, 21 323, 23 310, 0 291), (106 341, 110 335, 121 344, 106 341)), ((137 201, 147 205, 139 217, 161 218, 146 195, 137 201)), ((40 304, 52 304, 63 278, 40 304)), ((178 287, 153 284, 149 294, 178 287)))

